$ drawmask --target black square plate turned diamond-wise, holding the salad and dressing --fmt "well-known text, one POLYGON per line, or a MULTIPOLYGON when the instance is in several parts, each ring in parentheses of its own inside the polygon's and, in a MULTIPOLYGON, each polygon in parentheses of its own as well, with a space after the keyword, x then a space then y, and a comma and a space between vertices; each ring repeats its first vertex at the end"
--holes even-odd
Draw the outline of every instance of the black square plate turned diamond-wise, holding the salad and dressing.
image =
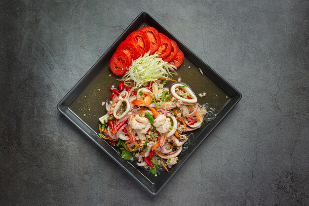
POLYGON ((229 82, 211 69, 153 17, 146 12, 142 12, 65 95, 58 103, 57 108, 147 191, 156 195, 240 99, 241 93, 229 82), (201 128, 189 134, 189 144, 187 144, 186 148, 184 147, 184 150, 178 156, 179 162, 177 165, 174 165, 169 170, 169 173, 159 171, 156 177, 137 166, 135 162, 124 161, 116 147, 109 145, 105 140, 97 136, 98 119, 106 114, 105 107, 102 107, 101 104, 110 98, 111 92, 109 88, 111 85, 118 84, 116 76, 109 69, 111 56, 121 41, 131 32, 139 30, 143 26, 152 26, 177 42, 179 48, 184 52, 185 60, 177 69, 178 77, 174 78, 181 78, 181 82, 187 83, 196 94, 205 92, 206 96, 198 97, 198 103, 207 103, 214 110, 213 115, 215 117, 212 121, 203 124, 201 128))

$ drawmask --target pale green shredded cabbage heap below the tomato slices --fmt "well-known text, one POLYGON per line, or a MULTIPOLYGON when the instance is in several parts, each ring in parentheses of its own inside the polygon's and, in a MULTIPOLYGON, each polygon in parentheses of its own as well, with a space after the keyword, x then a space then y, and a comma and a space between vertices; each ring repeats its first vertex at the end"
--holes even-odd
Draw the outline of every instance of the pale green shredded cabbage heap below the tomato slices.
POLYGON ((157 54, 144 56, 132 61, 122 80, 132 80, 137 87, 146 86, 148 82, 152 82, 159 78, 167 78, 168 76, 177 75, 174 65, 168 64, 161 58, 157 58, 157 54))

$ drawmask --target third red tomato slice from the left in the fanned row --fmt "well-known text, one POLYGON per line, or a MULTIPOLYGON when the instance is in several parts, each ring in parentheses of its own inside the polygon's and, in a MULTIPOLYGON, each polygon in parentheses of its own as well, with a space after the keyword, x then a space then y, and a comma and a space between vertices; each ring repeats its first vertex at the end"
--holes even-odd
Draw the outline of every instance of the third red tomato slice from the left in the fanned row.
POLYGON ((150 42, 145 32, 132 32, 126 40, 131 41, 142 55, 150 49, 150 42))

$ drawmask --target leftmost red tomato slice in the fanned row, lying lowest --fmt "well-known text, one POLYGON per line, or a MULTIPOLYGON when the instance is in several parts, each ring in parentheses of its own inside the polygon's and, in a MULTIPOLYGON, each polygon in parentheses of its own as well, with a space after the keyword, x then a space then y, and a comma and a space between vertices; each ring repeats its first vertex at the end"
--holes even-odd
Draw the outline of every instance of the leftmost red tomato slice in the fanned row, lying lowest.
POLYGON ((130 55, 127 55, 121 50, 117 50, 110 61, 110 68, 114 75, 123 76, 131 66, 132 59, 130 55))

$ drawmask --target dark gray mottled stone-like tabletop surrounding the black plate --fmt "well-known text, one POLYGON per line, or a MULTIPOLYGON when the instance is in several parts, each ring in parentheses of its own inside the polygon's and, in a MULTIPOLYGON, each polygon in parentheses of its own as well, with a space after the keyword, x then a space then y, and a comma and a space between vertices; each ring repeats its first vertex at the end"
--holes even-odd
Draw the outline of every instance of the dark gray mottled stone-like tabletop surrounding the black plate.
POLYGON ((309 205, 308 0, 1 0, 0 205, 309 205), (243 94, 153 197, 56 110, 142 11, 243 94))

